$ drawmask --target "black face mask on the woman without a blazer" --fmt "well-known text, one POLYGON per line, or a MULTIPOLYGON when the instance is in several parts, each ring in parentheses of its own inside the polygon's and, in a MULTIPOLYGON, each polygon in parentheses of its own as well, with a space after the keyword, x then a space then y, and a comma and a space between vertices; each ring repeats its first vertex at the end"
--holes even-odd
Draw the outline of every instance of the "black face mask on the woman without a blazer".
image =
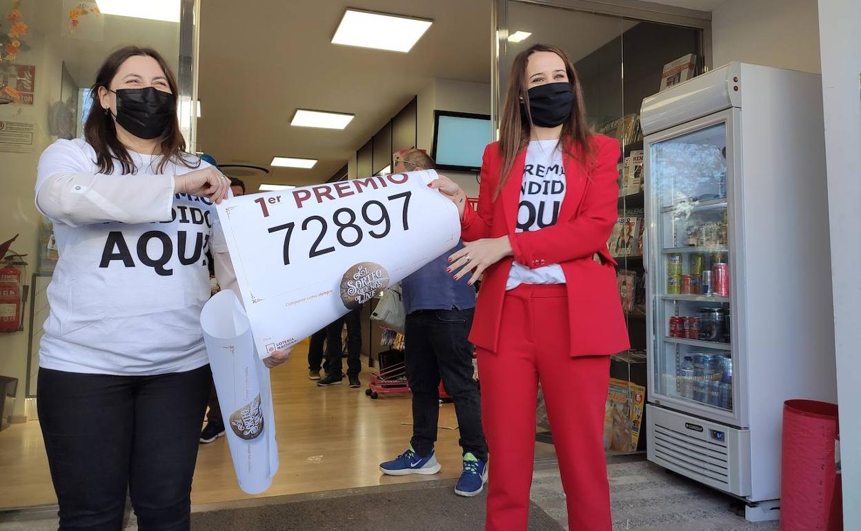
POLYGON ((139 139, 155 139, 177 117, 177 99, 155 87, 114 90, 116 123, 139 139))

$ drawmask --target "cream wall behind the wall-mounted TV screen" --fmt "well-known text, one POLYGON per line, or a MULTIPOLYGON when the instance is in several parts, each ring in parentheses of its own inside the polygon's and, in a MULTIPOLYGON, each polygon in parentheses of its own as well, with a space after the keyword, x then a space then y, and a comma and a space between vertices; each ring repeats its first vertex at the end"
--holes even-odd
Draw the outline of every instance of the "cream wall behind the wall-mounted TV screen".
MULTIPOLYGON (((435 109, 457 113, 490 114, 490 84, 437 78, 418 93, 417 146, 429 153, 433 147, 435 109)), ((445 170, 443 173, 460 184, 469 197, 478 197, 479 182, 474 173, 450 170, 445 170)))

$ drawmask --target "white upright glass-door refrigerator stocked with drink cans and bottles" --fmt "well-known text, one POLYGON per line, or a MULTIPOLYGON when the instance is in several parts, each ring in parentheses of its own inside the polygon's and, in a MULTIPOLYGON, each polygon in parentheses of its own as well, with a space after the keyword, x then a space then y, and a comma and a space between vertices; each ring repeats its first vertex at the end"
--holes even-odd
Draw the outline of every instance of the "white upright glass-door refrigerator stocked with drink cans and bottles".
POLYGON ((777 519, 784 400, 836 399, 821 78, 731 63, 641 120, 647 457, 777 519))

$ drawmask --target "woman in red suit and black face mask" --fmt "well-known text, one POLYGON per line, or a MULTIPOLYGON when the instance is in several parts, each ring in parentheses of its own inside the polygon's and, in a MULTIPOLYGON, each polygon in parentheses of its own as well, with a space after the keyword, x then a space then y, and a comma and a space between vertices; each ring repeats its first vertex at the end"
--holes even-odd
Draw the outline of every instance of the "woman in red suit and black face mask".
POLYGON ((483 276, 470 340, 492 460, 487 531, 524 531, 541 382, 569 527, 610 531, 604 403, 610 355, 629 348, 616 262, 616 140, 592 134, 571 62, 536 45, 514 60, 499 142, 485 149, 478 212, 446 177, 457 205, 455 278, 483 276))

